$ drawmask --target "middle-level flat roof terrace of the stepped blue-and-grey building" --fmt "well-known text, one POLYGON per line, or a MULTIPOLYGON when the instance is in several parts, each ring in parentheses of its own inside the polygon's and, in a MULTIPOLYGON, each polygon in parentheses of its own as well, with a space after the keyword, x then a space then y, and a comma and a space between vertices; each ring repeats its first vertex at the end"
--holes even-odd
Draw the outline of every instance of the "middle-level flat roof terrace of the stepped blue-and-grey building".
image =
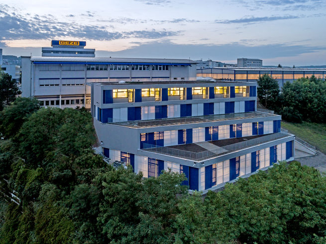
POLYGON ((247 112, 247 113, 232 113, 232 114, 218 114, 218 115, 204 115, 194 117, 182 117, 182 118, 167 118, 159 120, 136 120, 126 122, 109 122, 109 124, 115 124, 120 126, 132 127, 132 128, 148 128, 157 126, 169 126, 180 124, 195 124, 204 122, 217 122, 225 120, 236 119, 251 119, 251 118, 265 118, 265 117, 277 117, 280 115, 265 113, 265 112, 247 112))

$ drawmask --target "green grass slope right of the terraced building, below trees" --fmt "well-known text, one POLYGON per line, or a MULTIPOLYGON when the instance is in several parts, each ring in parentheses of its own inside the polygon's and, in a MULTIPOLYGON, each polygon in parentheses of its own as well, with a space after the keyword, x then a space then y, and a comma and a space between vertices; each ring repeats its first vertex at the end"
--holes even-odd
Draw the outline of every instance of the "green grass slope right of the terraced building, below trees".
POLYGON ((281 122, 281 127, 288 130, 291 134, 315 146, 322 153, 326 154, 326 124, 303 122, 288 123, 281 122))

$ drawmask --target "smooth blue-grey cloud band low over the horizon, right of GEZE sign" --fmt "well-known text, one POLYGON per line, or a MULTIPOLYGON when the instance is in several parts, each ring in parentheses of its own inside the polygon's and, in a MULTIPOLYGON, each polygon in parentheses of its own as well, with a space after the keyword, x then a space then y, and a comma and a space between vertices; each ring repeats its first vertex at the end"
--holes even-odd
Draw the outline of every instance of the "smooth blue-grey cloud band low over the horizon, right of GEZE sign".
POLYGON ((248 45, 244 40, 229 44, 175 44, 169 40, 139 43, 139 45, 116 52, 96 52, 99 57, 148 57, 148 58, 191 58, 213 60, 235 60, 239 57, 277 58, 293 57, 305 53, 322 52, 325 47, 289 44, 248 45))

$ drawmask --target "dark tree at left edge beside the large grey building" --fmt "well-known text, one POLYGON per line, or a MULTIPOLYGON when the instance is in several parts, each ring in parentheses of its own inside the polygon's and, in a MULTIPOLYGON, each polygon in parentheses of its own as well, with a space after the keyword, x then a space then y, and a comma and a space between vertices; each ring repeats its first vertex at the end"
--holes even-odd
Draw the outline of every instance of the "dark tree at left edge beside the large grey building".
POLYGON ((0 111, 3 109, 3 103, 9 105, 20 93, 17 82, 13 81, 11 76, 6 73, 0 74, 0 111))

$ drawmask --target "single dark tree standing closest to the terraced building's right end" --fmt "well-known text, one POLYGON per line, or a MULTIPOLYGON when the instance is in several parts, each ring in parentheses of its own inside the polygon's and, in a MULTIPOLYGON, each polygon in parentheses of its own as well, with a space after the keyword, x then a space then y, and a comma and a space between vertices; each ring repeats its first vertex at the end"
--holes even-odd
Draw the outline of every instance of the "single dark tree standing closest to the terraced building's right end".
POLYGON ((268 74, 259 77, 257 95, 265 107, 274 109, 280 93, 278 81, 268 74))

